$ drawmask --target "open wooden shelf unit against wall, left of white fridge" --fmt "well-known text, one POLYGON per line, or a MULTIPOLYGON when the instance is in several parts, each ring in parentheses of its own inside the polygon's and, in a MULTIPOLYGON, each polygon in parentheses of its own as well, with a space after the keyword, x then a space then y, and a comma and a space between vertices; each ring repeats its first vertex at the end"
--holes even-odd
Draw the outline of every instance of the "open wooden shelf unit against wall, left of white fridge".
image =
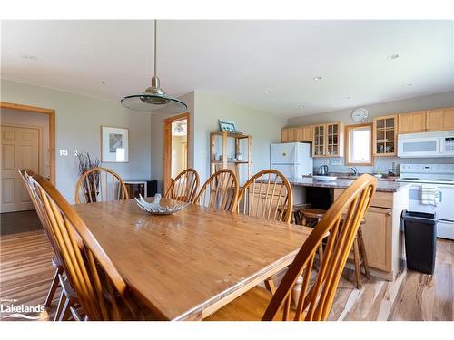
POLYGON ((251 177, 251 145, 252 145, 252 137, 247 134, 238 134, 238 133, 232 133, 228 131, 216 131, 210 133, 210 164, 211 164, 211 174, 216 172, 217 170, 221 169, 229 169, 232 170, 233 173, 236 175, 238 182, 242 183, 243 181, 240 180, 241 176, 241 166, 247 166, 247 178, 248 180, 251 177), (247 154, 242 155, 242 160, 228 160, 228 143, 229 139, 232 139, 234 141, 234 155, 233 157, 236 157, 236 155, 242 151, 242 148, 244 148, 245 151, 247 151, 247 154), (216 157, 216 151, 220 149, 218 147, 217 141, 222 141, 221 145, 221 154, 222 155, 222 160, 219 160, 219 156, 216 157), (242 143, 246 143, 246 145, 242 145, 242 143))

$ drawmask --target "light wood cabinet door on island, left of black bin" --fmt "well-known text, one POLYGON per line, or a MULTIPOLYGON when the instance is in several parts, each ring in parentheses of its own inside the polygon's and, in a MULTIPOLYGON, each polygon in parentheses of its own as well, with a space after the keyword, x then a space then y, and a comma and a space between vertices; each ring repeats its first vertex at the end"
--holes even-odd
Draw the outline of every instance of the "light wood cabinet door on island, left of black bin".
POLYGON ((391 209, 370 207, 362 226, 369 267, 391 271, 391 209))

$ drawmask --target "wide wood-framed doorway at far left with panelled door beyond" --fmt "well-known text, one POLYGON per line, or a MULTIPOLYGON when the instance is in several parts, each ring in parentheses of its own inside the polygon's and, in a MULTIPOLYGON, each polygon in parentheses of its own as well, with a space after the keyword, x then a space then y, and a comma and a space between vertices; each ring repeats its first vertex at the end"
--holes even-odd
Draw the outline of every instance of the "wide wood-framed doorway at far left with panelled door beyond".
POLYGON ((55 183, 55 112, 0 102, 1 234, 41 228, 18 170, 30 169, 55 183))

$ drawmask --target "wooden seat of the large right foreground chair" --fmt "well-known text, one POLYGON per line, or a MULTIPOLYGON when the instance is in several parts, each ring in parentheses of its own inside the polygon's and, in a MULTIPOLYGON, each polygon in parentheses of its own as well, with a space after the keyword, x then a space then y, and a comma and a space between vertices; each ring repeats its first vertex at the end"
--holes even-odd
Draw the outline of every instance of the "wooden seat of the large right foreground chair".
MULTIPOLYGON (((267 306, 271 301, 271 293, 262 287, 253 287, 242 296, 238 296, 231 303, 223 306, 211 316, 206 317, 205 321, 261 321, 267 306)), ((294 311, 290 311, 291 319, 294 311)), ((276 320, 282 319, 280 311, 276 320)))

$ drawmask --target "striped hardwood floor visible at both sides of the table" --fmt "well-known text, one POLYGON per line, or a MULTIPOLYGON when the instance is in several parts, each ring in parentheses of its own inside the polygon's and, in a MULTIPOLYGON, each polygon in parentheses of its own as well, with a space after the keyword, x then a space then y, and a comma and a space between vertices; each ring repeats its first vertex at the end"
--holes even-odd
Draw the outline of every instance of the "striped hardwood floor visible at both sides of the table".
MULTIPOLYGON (((44 299, 54 275, 52 248, 43 231, 3 236, 0 241, 0 298, 35 306, 44 299)), ((53 319, 59 291, 41 319, 53 319)), ((454 320, 454 242, 437 241, 435 274, 405 271, 394 282, 375 277, 355 288, 346 270, 330 320, 454 320)), ((5 313, 3 313, 5 314, 5 313)), ((1 316, 0 316, 1 317, 1 316)))

